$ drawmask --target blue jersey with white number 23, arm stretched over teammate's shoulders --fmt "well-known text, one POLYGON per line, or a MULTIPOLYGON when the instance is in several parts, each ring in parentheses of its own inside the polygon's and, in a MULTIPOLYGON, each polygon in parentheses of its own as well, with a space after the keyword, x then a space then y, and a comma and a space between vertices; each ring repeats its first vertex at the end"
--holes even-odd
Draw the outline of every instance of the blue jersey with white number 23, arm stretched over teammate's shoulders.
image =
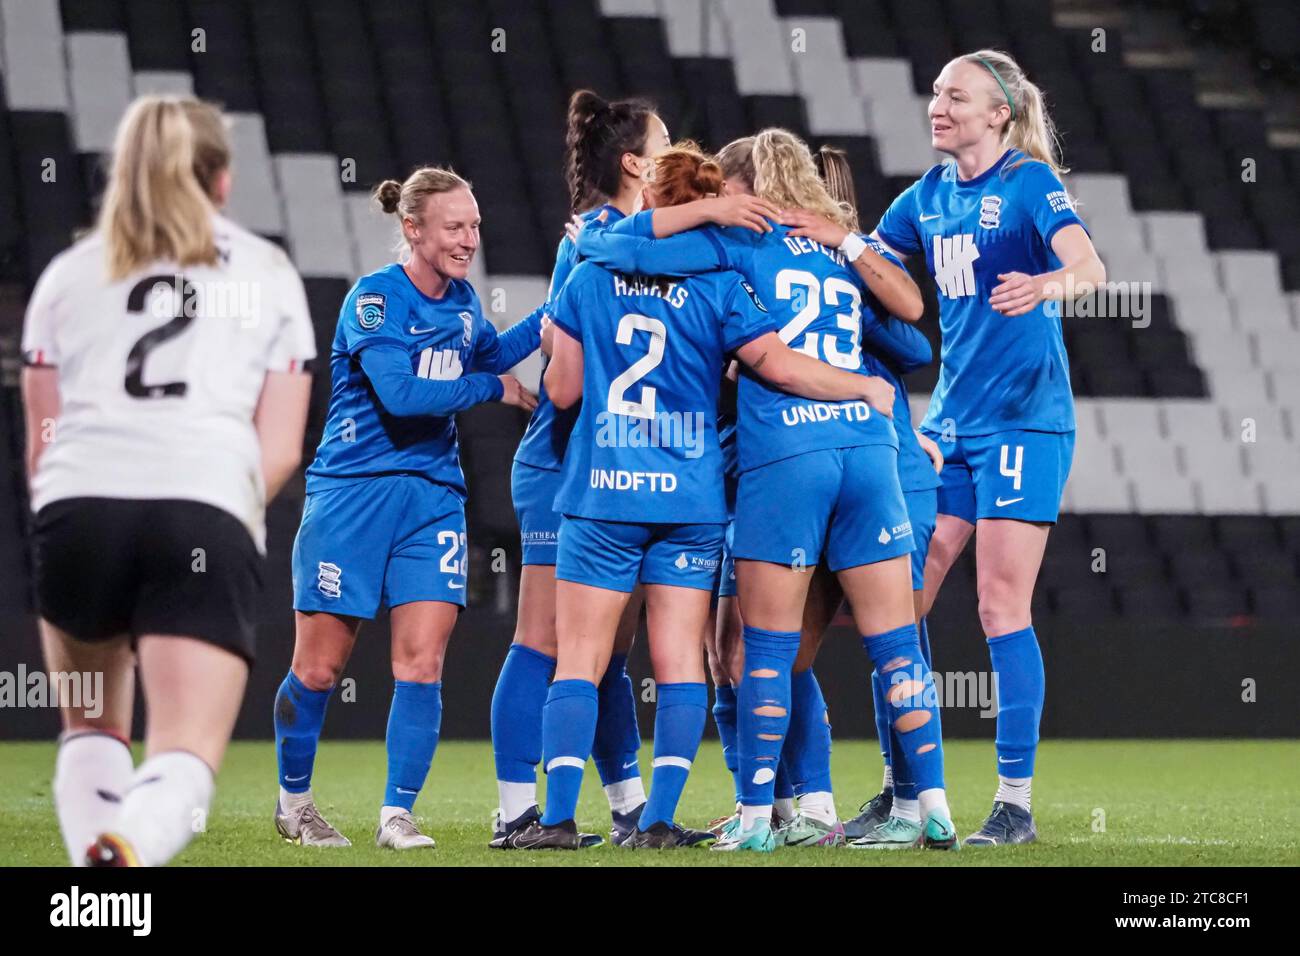
MULTIPOLYGON (((578 252, 610 268, 658 274, 689 274, 716 268, 748 278, 776 319, 781 341, 848 372, 867 375, 863 326, 876 321, 863 311, 863 285, 838 250, 789 235, 749 229, 692 229, 654 239, 651 209, 610 228, 588 226, 578 252)), ((770 386, 741 368, 738 397, 740 470, 822 449, 855 445, 898 446, 890 421, 866 402, 818 402, 770 386)))

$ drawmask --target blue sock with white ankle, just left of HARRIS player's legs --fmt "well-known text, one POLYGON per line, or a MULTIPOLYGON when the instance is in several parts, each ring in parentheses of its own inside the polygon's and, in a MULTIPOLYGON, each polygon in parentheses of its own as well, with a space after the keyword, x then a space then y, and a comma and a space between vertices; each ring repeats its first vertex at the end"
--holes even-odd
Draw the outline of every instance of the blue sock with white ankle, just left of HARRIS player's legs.
POLYGON ((542 760, 542 708, 555 674, 555 658, 511 644, 491 695, 491 749, 504 819, 517 819, 537 803, 542 760))

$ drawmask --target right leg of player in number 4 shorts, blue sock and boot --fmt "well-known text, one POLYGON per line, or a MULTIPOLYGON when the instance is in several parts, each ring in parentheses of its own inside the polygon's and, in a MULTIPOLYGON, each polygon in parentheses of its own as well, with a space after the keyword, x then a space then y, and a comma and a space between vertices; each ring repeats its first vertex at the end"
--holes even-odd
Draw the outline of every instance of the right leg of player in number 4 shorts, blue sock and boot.
POLYGON ((1030 796, 1044 676, 1030 606, 1050 527, 982 518, 975 532, 979 618, 998 685, 998 784, 992 813, 966 839, 971 845, 1031 843, 1037 838, 1030 796))

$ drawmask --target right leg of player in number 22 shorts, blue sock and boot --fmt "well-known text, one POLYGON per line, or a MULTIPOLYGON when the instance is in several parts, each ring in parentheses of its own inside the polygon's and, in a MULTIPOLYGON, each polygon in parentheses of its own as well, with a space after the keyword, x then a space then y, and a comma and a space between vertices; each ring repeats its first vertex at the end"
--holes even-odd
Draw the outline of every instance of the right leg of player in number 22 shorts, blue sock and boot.
POLYGON ((380 847, 434 845, 433 838, 420 831, 411 809, 424 788, 438 745, 442 663, 459 615, 459 605, 448 601, 411 601, 390 613, 395 687, 386 741, 389 780, 374 831, 380 847), (410 700, 398 700, 398 695, 410 700), (408 713, 408 708, 419 713, 408 713))

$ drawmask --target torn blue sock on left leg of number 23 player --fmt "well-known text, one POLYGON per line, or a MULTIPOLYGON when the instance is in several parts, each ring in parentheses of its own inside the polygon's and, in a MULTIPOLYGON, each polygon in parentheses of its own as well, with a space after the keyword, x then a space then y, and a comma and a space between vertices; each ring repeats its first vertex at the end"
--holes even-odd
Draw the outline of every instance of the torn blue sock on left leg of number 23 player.
POLYGON ((736 700, 736 740, 741 805, 754 808, 749 816, 755 818, 764 808, 771 813, 776 765, 790 723, 790 669, 798 650, 798 631, 745 626, 745 672, 736 700))

